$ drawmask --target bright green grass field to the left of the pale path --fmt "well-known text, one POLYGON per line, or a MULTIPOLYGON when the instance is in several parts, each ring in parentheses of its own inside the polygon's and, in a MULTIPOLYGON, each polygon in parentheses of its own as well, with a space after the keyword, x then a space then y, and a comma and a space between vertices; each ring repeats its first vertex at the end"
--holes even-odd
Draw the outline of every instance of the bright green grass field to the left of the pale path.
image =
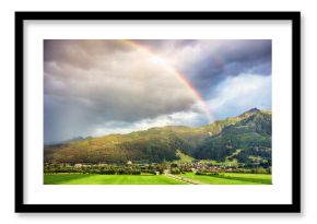
POLYGON ((185 185, 164 175, 44 175, 44 185, 185 185))

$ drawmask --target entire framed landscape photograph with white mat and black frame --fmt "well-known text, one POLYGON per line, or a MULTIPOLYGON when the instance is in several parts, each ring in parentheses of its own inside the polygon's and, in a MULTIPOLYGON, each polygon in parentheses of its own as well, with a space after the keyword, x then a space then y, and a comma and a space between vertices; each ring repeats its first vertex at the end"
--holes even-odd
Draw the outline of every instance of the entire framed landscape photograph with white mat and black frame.
POLYGON ((301 212, 300 12, 15 12, 15 212, 301 212))

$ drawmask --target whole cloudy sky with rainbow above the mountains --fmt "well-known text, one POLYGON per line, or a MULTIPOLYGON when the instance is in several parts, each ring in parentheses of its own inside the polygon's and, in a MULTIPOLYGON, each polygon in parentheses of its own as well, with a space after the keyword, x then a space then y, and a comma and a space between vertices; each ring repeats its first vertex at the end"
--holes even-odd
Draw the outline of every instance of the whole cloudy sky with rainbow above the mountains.
POLYGON ((271 109, 270 39, 45 39, 44 142, 271 109))

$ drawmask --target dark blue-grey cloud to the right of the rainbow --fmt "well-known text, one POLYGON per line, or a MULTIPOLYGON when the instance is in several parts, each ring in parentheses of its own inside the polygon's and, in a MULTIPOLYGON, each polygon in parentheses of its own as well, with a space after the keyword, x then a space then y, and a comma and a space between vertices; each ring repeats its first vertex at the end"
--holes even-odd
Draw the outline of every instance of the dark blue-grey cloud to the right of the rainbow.
MULTIPOLYGON (((183 51, 183 55, 175 57, 176 60, 180 58, 180 61, 185 62, 176 67, 204 97, 209 97, 214 86, 226 76, 242 73, 271 74, 270 39, 141 40, 141 43, 153 48, 157 54, 168 52, 171 49, 171 51, 183 51), (190 50, 184 50, 185 48, 190 50)), ((173 54, 167 55, 174 57, 173 54)))

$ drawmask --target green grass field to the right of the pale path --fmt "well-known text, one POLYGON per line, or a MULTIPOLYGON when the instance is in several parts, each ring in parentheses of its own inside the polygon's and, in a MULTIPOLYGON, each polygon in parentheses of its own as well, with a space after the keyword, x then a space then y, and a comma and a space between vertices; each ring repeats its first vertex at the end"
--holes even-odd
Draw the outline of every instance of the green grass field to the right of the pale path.
POLYGON ((206 176, 187 173, 180 176, 208 185, 271 185, 272 182, 272 176, 267 174, 225 173, 219 176, 206 176))

